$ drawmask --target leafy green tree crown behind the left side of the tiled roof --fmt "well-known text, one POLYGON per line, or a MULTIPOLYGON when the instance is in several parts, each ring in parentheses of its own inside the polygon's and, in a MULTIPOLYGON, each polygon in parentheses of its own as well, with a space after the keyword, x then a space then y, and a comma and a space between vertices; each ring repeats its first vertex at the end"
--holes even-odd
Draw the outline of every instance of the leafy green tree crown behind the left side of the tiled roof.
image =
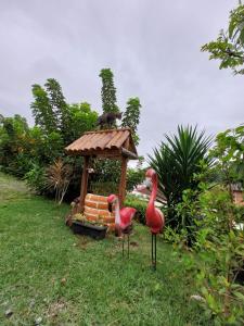
POLYGON ((46 135, 59 133, 66 146, 87 130, 94 128, 98 114, 89 103, 68 104, 62 87, 54 78, 47 79, 44 88, 33 86, 31 103, 36 125, 46 135))

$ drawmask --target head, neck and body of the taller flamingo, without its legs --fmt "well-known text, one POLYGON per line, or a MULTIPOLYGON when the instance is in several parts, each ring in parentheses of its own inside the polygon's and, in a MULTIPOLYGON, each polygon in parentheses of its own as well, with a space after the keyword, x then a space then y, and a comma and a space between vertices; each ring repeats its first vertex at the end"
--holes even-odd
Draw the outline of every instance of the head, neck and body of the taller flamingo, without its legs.
POLYGON ((155 208, 155 200, 157 195, 157 174, 153 168, 146 171, 145 176, 152 180, 152 192, 147 209, 145 212, 146 225, 151 228, 151 233, 156 235, 158 234, 165 225, 164 214, 155 208))

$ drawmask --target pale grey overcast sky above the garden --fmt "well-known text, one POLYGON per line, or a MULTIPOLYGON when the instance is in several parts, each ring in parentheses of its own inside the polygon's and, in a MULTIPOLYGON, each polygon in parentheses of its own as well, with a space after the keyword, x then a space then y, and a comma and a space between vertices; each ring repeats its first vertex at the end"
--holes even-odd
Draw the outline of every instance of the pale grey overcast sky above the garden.
POLYGON ((142 103, 139 154, 178 124, 216 134, 244 122, 243 80, 200 51, 237 0, 0 0, 0 113, 33 123, 31 85, 56 78, 68 102, 101 112, 99 72, 118 105, 142 103))

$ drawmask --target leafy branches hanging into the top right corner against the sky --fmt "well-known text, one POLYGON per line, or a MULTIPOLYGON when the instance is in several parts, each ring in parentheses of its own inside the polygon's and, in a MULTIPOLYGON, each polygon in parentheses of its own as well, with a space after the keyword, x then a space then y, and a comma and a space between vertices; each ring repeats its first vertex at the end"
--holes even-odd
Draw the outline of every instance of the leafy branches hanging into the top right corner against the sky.
POLYGON ((244 74, 244 5, 230 12, 229 28, 221 30, 217 40, 202 47, 210 53, 209 60, 220 60, 219 68, 231 68, 234 74, 244 74))

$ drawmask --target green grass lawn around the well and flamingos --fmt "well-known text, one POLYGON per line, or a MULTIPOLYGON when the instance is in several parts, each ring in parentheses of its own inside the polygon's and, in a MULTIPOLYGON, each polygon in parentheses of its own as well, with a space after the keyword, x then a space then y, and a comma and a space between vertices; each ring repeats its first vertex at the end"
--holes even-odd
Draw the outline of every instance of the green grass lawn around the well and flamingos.
POLYGON ((210 325, 169 244, 158 240, 153 272, 146 227, 136 224, 127 260, 112 235, 73 235, 68 209, 0 175, 0 325, 210 325))

